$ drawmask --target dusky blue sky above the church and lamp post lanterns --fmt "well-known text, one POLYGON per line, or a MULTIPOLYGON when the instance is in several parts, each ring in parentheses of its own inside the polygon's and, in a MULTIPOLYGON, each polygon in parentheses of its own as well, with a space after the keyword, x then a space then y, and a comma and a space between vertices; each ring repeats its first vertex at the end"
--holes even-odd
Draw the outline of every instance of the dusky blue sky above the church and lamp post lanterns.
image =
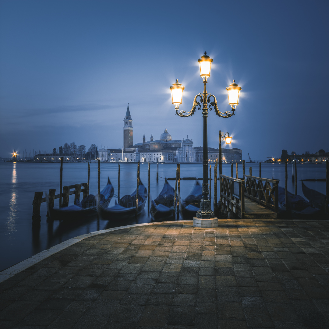
POLYGON ((0 156, 73 141, 121 148, 127 102, 134 143, 167 127, 202 146, 201 111, 175 115, 169 87, 185 86, 189 111, 205 51, 221 112, 225 88, 242 87, 235 116, 209 113, 209 146, 220 129, 245 160, 328 152, 328 10, 316 0, 0 1, 0 156))

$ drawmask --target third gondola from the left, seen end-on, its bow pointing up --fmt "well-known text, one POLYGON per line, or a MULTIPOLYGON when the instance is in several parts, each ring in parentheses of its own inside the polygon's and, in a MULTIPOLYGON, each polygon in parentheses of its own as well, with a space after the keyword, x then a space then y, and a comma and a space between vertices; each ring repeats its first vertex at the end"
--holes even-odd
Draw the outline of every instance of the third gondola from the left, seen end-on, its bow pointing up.
POLYGON ((164 219, 174 215, 174 197, 175 191, 165 179, 162 191, 151 202, 150 213, 154 219, 164 219))

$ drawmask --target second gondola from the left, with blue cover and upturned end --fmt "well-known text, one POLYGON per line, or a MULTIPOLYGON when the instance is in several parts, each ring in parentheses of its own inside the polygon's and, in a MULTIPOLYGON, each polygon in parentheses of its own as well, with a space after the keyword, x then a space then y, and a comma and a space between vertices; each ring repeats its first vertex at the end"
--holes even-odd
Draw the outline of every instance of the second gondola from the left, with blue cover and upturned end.
MULTIPOLYGON (((132 194, 124 195, 119 200, 119 202, 115 200, 115 205, 113 207, 100 204, 100 212, 102 218, 127 218, 136 215, 136 193, 137 189, 132 194)), ((139 215, 143 211, 146 199, 147 189, 143 185, 141 180, 139 180, 137 215, 139 215)))

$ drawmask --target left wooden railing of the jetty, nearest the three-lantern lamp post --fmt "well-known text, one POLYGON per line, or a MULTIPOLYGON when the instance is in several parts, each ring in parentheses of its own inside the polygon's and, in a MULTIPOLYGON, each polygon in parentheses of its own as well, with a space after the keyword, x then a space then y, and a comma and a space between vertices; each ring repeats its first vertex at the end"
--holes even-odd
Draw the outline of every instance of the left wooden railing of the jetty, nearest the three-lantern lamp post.
MULTIPOLYGON (((244 180, 220 175, 220 206, 244 218, 244 180)), ((220 208, 221 209, 221 208, 220 208)))

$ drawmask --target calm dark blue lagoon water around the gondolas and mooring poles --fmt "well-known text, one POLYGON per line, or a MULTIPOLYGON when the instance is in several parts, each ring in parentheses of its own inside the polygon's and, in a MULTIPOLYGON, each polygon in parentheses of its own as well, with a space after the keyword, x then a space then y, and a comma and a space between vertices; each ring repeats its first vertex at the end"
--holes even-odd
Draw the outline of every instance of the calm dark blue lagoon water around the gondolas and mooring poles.
MULTIPOLYGON (((252 166, 253 174, 258 176, 259 164, 246 164, 246 173, 252 166)), ((156 164, 151 164, 150 198, 154 199, 162 190, 164 179, 156 182, 156 164)), ((223 174, 230 176, 230 165, 223 164, 223 174)), ((298 194, 302 194, 300 179, 325 178, 325 165, 297 165, 298 194)), ((234 165, 235 173, 235 165, 234 165)), ((176 164, 159 164, 160 177, 175 177, 176 164)), ((107 176, 117 193, 118 164, 101 164, 101 189, 107 183, 107 176)), ((202 164, 181 164, 181 177, 202 177, 202 164)), ((63 164, 63 186, 87 182, 88 164, 63 164)), ((130 194, 136 189, 137 164, 120 164, 120 196, 130 194)), ((242 165, 239 165, 239 177, 242 177, 242 165)), ((279 179, 279 185, 284 187, 285 167, 281 164, 262 164, 262 177, 279 179)), ((288 164, 288 189, 293 192, 291 182, 291 164, 288 164)), ((141 164, 141 181, 148 184, 148 164, 141 164)), ((90 193, 97 193, 97 164, 90 164, 90 193)), ((8 268, 32 255, 50 248, 60 242, 81 234, 90 233, 105 228, 152 221, 147 212, 131 220, 107 221, 93 218, 81 224, 69 226, 55 221, 53 225, 46 222, 46 204, 41 204, 41 227, 39 232, 32 231, 32 201, 35 191, 56 189, 59 193, 60 164, 59 163, 0 163, 0 270, 8 268)), ((169 181, 174 187, 175 181, 169 181)), ((181 197, 186 197, 195 181, 182 180, 181 197)), ((306 182, 306 185, 325 194, 325 182, 306 182)), ((82 196, 82 195, 81 195, 82 196)), ((70 196, 70 204, 73 196, 70 196)), ((55 200, 58 207, 59 199, 55 200)), ((114 204, 114 198, 111 201, 114 204)), ((182 218, 180 218, 182 219, 182 218)))

